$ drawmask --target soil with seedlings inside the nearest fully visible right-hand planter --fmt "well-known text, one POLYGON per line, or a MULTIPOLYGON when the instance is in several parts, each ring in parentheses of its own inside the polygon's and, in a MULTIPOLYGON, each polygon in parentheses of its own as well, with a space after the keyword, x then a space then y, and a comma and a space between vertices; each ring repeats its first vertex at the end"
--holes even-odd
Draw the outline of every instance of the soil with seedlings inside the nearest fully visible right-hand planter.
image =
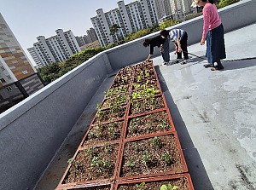
POLYGON ((125 143, 121 177, 183 172, 174 135, 125 143))

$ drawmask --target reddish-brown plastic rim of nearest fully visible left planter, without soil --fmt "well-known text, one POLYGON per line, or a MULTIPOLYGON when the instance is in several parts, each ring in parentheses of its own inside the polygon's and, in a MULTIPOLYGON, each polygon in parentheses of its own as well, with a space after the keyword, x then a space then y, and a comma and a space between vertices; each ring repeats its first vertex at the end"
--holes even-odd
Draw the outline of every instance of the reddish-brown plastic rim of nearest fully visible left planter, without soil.
MULTIPOLYGON (((108 178, 104 179, 95 179, 95 180, 87 180, 87 181, 78 181, 78 182, 71 182, 71 183, 65 183, 65 180, 67 179, 67 176, 70 175, 69 170, 72 166, 72 164, 68 164, 67 170, 65 171, 64 175, 61 177, 61 181, 56 189, 65 189, 65 188, 74 188, 74 187, 94 187, 94 186, 102 186, 102 185, 108 185, 111 184, 111 182, 115 179, 115 176, 117 175, 118 172, 118 166, 119 166, 119 154, 121 150, 121 144, 120 143, 115 143, 115 142, 109 142, 111 145, 116 145, 117 150, 116 150, 116 158, 114 160, 114 169, 113 169, 113 176, 109 176, 108 178)), ((93 147, 102 147, 99 145, 93 146, 93 147)), ((78 158, 79 154, 83 154, 84 148, 79 148, 77 152, 73 156, 73 162, 78 158)), ((115 155, 115 154, 114 154, 115 155)))

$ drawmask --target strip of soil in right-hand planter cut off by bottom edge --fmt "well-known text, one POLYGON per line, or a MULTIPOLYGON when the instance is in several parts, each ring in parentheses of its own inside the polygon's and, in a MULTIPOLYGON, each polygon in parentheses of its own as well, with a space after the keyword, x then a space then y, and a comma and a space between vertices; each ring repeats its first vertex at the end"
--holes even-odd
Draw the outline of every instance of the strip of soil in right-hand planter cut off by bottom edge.
MULTIPOLYGON (((170 181, 155 181, 155 182, 146 182, 145 186, 139 188, 140 190, 160 190, 162 185, 171 184, 172 186, 177 186, 177 190, 189 190, 189 182, 185 177, 173 179, 170 181)), ((141 183, 121 185, 118 187, 118 190, 138 190, 138 187, 141 183)))

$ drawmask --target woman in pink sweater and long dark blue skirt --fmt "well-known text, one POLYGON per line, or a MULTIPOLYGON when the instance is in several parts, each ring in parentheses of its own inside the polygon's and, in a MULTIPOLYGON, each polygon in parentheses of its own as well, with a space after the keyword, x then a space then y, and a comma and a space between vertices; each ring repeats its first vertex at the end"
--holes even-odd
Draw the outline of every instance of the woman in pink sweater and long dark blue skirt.
POLYGON ((203 32, 201 45, 207 41, 207 60, 205 67, 212 67, 212 71, 223 70, 220 60, 226 58, 224 44, 224 27, 218 14, 214 0, 195 0, 193 4, 203 7, 203 32))

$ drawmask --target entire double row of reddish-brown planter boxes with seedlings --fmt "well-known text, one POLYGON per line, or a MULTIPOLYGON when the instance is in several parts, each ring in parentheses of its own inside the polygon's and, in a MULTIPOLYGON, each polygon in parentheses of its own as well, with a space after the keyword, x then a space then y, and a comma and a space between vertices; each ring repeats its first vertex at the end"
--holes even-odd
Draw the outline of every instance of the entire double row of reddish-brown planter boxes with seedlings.
POLYGON ((56 189, 193 190, 153 63, 121 69, 56 189))

